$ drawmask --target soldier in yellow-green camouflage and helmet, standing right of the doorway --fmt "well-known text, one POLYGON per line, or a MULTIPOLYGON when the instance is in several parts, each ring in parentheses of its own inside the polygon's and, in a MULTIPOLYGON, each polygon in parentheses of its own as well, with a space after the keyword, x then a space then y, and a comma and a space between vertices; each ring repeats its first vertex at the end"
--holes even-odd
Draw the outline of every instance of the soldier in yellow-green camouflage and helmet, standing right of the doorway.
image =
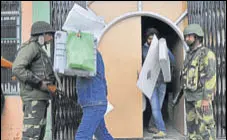
POLYGON ((184 38, 190 50, 183 69, 187 128, 190 140, 215 140, 216 129, 212 100, 216 87, 215 54, 202 45, 203 30, 190 24, 184 38))

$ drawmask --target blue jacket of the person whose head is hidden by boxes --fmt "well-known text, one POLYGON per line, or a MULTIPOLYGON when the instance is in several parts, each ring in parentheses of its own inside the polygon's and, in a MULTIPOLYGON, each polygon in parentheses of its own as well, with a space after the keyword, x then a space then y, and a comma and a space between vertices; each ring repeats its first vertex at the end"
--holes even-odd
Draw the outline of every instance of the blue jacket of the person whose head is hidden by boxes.
POLYGON ((78 103, 82 106, 107 105, 107 85, 103 59, 97 50, 97 74, 76 80, 78 103))

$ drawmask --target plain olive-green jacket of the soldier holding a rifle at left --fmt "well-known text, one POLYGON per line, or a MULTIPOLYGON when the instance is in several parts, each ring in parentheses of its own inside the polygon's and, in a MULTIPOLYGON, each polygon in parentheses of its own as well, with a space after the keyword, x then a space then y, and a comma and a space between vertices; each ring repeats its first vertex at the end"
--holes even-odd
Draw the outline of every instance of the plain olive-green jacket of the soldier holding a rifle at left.
POLYGON ((23 101, 50 99, 49 93, 39 87, 42 80, 55 81, 52 63, 36 41, 28 41, 21 46, 12 70, 20 82, 23 101))

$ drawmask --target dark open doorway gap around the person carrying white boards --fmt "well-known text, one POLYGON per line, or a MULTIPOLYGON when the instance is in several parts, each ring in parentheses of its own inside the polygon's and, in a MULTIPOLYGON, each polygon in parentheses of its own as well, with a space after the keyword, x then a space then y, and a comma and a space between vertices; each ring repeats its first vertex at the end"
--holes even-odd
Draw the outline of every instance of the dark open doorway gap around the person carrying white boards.
MULTIPOLYGON (((141 16, 141 52, 142 46, 146 42, 146 30, 148 28, 156 28, 159 31, 159 36, 166 39, 167 46, 169 50, 173 53, 176 63, 175 66, 171 66, 171 79, 172 81, 167 83, 166 87, 166 95, 164 98, 163 106, 162 106, 162 115, 165 122, 165 126, 167 129, 167 136, 169 138, 180 138, 183 137, 183 130, 184 130, 184 108, 177 107, 177 109, 172 107, 171 102, 173 96, 179 91, 179 76, 180 76, 180 69, 182 68, 182 61, 183 61, 183 53, 182 48, 183 44, 173 28, 171 28, 167 23, 160 21, 156 18, 149 17, 149 16, 141 16), (178 114, 181 114, 179 116, 178 114)), ((141 54, 142 59, 142 54, 141 54)), ((142 62, 143 63, 143 62, 142 62)), ((142 64, 141 64, 142 66, 142 64)), ((146 102, 146 109, 143 112, 143 129, 144 129, 144 137, 149 137, 152 134, 148 133, 147 128, 149 127, 149 120, 151 118, 151 106, 149 103, 148 98, 145 100, 146 102)), ((181 106, 184 103, 180 103, 181 106)))

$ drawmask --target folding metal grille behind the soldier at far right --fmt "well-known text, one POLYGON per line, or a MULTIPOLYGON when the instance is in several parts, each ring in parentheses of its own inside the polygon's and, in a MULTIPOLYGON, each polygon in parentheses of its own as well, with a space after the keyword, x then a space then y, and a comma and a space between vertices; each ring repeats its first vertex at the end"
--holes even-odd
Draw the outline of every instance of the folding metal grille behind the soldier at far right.
POLYGON ((217 137, 226 137, 226 1, 189 1, 189 23, 202 26, 204 45, 216 54, 217 89, 213 101, 217 137))

